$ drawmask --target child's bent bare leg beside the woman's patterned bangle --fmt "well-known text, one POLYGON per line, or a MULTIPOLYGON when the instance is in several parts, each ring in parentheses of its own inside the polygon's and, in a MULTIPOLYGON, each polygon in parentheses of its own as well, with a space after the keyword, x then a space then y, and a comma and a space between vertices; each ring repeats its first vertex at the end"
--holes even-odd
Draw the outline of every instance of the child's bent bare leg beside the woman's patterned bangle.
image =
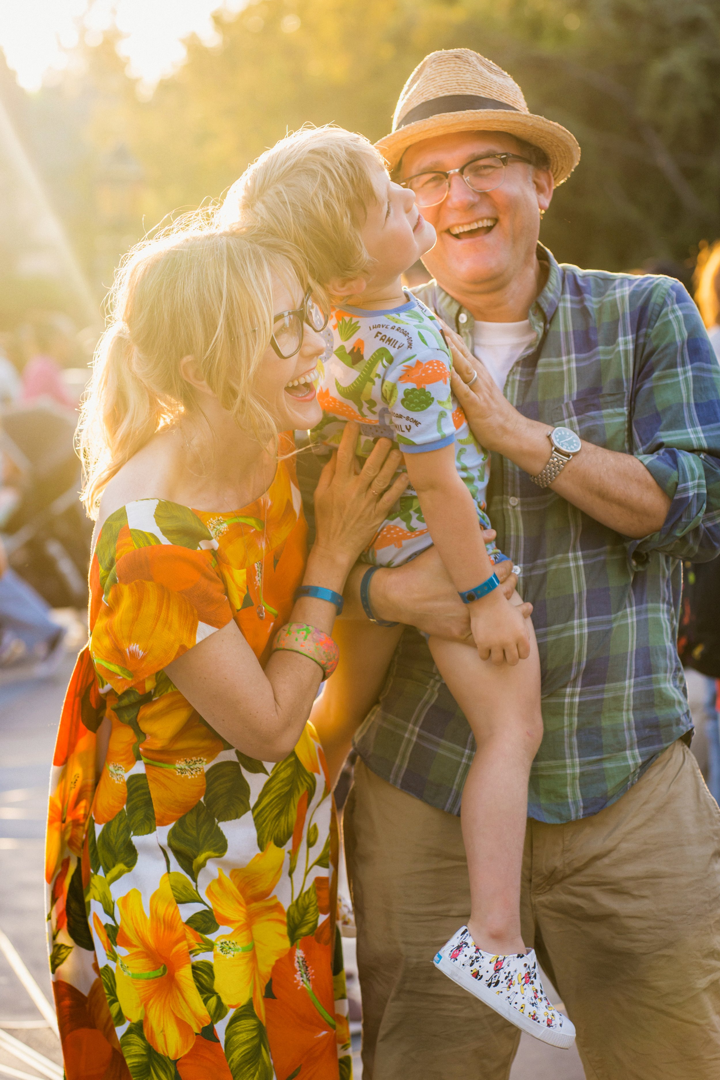
POLYGON ((372 705, 400 639, 404 626, 337 619, 332 637, 340 661, 313 705, 310 719, 325 751, 330 784, 340 775, 352 739, 372 705))

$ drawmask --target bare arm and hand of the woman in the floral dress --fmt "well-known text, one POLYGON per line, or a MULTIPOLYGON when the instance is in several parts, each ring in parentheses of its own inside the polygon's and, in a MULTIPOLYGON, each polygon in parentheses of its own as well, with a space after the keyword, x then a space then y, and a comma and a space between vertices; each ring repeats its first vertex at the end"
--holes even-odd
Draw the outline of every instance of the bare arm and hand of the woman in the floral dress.
MULTIPOLYGON (((337 457, 323 470, 315 491, 317 537, 303 577, 304 584, 339 593, 350 568, 407 484, 403 475, 393 481, 400 456, 389 453, 388 440, 378 442, 357 472, 356 440, 356 426, 348 424, 337 457), (373 488, 382 490, 388 485, 378 497, 373 488)), ((329 634, 335 613, 326 600, 301 597, 289 621, 329 634)), ((318 664, 288 651, 273 653, 263 671, 234 622, 165 671, 223 739, 250 757, 269 761, 282 760, 297 743, 322 679, 318 664)))

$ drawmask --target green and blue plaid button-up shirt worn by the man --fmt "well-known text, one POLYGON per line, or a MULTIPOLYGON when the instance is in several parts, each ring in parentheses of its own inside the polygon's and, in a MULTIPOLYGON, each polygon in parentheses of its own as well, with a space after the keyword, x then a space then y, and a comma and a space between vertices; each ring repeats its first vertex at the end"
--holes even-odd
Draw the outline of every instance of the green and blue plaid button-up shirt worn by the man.
MULTIPOLYGON (((542 664, 529 813, 565 822, 614 802, 692 728, 676 646, 680 559, 720 548, 720 367, 675 280, 539 255, 548 278, 529 314, 536 340, 505 396, 548 430, 635 455, 673 500, 660 532, 629 540, 492 456, 488 511, 498 545, 522 567, 542 664)), ((466 309, 434 282, 415 292, 473 348, 466 309)), ((475 743, 417 631, 405 632, 355 747, 394 786, 460 812, 475 743)))

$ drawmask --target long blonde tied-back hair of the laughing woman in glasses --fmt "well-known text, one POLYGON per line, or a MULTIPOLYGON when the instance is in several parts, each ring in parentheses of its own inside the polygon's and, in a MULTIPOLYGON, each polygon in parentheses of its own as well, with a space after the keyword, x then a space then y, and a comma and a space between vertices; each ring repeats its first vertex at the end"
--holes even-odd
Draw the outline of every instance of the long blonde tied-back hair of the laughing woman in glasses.
POLYGON ((110 295, 78 427, 82 501, 97 516, 108 482, 155 432, 199 408, 180 361, 193 356, 237 423, 263 444, 276 437, 253 391, 270 342, 273 276, 307 275, 298 253, 272 237, 217 228, 193 215, 137 244, 110 295))

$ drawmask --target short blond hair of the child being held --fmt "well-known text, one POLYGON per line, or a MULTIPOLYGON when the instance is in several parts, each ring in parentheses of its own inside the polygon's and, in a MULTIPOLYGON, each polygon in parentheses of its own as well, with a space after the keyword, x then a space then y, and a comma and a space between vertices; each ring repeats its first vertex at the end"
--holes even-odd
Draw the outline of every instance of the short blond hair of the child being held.
POLYGON ((302 127, 266 150, 233 184, 220 220, 289 240, 323 287, 332 278, 357 278, 370 265, 361 230, 377 200, 371 171, 378 165, 384 161, 363 135, 331 125, 302 127))

